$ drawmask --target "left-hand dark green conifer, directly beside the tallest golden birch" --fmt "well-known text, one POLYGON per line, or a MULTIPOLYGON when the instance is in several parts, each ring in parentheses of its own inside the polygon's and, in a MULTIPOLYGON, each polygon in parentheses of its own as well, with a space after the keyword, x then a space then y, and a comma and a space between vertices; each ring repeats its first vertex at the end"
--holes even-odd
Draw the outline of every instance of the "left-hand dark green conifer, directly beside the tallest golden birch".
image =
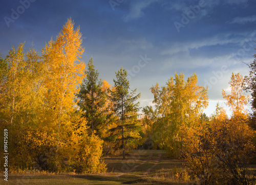
POLYGON ((86 77, 83 79, 80 91, 77 94, 79 99, 78 105, 84 112, 90 124, 92 134, 94 130, 99 135, 99 130, 102 128, 105 114, 103 108, 106 101, 106 94, 102 90, 102 82, 98 80, 99 72, 94 69, 93 58, 88 62, 88 69, 84 72, 86 77))

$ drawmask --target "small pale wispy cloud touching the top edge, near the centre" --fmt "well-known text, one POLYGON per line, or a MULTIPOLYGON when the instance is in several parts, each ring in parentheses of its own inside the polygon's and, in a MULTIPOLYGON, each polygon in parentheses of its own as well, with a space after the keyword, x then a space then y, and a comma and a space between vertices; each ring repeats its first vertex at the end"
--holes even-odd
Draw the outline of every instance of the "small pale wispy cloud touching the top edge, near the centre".
POLYGON ((142 9, 147 8, 152 3, 155 3, 157 1, 158 0, 133 1, 130 4, 130 12, 124 17, 124 21, 129 21, 143 16, 144 13, 142 12, 142 9))

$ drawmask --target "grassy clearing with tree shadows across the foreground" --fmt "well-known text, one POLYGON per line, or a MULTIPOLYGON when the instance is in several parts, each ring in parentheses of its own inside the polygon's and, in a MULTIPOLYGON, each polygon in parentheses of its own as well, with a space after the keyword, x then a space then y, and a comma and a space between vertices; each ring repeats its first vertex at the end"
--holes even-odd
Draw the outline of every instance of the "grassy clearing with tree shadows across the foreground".
MULTIPOLYGON (((170 160, 162 150, 132 150, 122 156, 105 156, 108 170, 101 174, 9 174, 0 184, 189 184, 181 160, 170 160)), ((255 172, 256 165, 250 165, 255 172)))

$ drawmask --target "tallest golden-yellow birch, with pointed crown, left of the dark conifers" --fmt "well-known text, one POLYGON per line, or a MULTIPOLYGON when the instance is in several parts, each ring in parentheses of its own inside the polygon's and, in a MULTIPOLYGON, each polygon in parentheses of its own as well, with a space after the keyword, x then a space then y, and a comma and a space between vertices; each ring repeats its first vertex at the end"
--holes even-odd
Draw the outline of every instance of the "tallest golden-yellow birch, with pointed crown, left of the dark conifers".
POLYGON ((42 49, 42 61, 45 65, 45 78, 42 82, 47 89, 44 94, 45 116, 42 124, 56 138, 56 167, 59 154, 67 142, 67 135, 71 132, 70 124, 75 111, 75 94, 84 77, 85 65, 79 59, 83 54, 82 39, 79 27, 74 29, 74 22, 70 19, 63 26, 56 40, 51 40, 42 49))

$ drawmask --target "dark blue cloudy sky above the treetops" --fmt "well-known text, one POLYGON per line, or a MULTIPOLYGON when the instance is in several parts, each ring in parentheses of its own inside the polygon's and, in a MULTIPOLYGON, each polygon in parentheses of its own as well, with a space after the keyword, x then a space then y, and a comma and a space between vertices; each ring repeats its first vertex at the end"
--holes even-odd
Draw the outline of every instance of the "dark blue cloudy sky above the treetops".
POLYGON ((253 60, 256 1, 249 0, 0 0, 0 54, 26 41, 40 51, 71 17, 80 25, 88 63, 113 85, 115 71, 129 71, 141 107, 151 105, 152 85, 175 72, 195 73, 208 86, 210 115, 232 72, 248 74, 253 60))

